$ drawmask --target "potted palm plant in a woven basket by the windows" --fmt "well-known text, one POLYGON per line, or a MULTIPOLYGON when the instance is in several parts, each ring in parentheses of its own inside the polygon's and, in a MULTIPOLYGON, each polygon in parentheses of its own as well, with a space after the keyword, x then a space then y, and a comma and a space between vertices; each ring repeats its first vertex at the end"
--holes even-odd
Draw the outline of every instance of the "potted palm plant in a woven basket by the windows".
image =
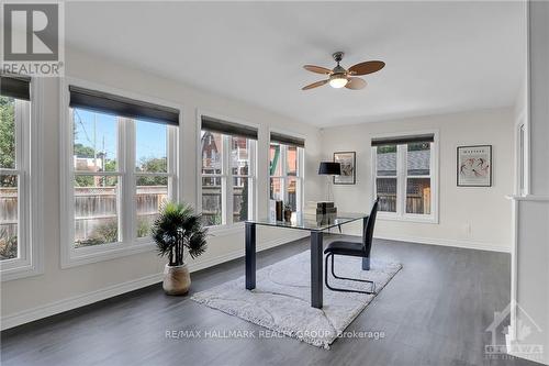
POLYGON ((195 258, 206 248, 208 230, 202 226, 200 214, 186 203, 168 202, 160 210, 150 230, 158 255, 168 257, 164 269, 164 291, 167 295, 184 295, 191 286, 189 268, 184 264, 187 249, 195 258))

